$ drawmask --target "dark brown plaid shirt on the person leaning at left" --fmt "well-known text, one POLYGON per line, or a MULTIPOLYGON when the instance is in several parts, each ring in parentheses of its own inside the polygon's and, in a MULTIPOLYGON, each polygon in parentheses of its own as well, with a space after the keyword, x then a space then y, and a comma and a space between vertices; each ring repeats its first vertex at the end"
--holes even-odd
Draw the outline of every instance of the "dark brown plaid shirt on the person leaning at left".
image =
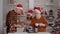
POLYGON ((17 23, 17 13, 12 10, 9 11, 9 13, 6 16, 6 26, 10 26, 10 24, 16 24, 17 23))

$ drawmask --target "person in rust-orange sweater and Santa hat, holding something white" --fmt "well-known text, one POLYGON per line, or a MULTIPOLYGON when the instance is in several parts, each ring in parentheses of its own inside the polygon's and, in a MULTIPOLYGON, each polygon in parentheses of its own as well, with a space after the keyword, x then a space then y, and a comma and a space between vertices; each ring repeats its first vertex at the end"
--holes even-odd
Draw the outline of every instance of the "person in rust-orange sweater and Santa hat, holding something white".
POLYGON ((44 16, 41 14, 40 7, 34 7, 35 17, 32 18, 30 26, 36 30, 36 32, 46 32, 46 27, 48 23, 44 16))

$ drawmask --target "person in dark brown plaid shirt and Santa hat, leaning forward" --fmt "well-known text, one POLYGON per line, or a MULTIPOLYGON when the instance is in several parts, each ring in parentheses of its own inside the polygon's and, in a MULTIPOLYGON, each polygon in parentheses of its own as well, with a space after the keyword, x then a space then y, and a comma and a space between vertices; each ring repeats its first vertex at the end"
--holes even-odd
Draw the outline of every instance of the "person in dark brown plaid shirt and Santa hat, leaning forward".
MULTIPOLYGON (((9 33, 11 25, 17 24, 17 15, 23 15, 22 4, 17 4, 17 7, 8 12, 6 16, 7 33, 9 33)), ((15 29, 16 30, 16 29, 15 29)))

